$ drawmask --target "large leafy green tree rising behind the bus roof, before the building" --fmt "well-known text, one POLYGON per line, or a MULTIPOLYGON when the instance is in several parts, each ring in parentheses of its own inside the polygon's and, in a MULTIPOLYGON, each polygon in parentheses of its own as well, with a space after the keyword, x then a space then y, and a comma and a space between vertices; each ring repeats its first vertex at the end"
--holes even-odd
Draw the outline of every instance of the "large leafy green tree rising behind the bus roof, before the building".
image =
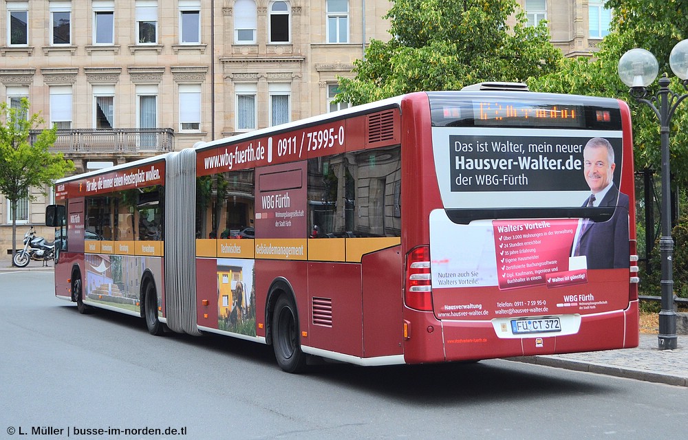
POLYGON ((339 102, 361 104, 481 81, 523 81, 559 68, 546 23, 526 25, 515 0, 392 0, 391 40, 372 40, 339 78, 339 102), (506 22, 515 17, 510 28, 506 22))

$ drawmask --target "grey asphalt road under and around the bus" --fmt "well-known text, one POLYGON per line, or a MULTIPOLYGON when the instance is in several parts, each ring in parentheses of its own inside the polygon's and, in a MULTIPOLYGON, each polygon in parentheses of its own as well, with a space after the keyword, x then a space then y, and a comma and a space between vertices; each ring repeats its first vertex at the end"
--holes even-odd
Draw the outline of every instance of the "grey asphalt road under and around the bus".
POLYGON ((0 439, 685 437, 685 387, 503 360, 289 375, 270 347, 150 336, 52 286, 52 272, 0 272, 0 439))

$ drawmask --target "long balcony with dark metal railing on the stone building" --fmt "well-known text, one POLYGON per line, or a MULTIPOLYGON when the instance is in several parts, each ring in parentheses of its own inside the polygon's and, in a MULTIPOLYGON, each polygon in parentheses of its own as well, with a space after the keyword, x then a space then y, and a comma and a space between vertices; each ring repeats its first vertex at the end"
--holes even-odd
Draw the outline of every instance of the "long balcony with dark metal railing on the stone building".
MULTIPOLYGON (((40 131, 32 130, 31 142, 40 131)), ((155 155, 174 151, 173 129, 58 129, 50 151, 67 156, 155 155)))

